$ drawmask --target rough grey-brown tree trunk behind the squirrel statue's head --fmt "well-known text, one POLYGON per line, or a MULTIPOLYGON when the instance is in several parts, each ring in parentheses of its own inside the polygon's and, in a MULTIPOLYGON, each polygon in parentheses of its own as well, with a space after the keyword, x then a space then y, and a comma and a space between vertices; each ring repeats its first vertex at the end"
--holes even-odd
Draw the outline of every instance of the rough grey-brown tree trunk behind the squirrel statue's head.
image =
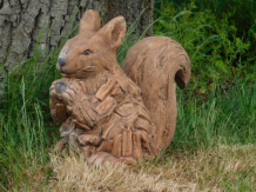
MULTIPOLYGON (((60 38, 78 24, 87 9, 95 9, 99 12, 102 25, 115 16, 122 15, 129 28, 141 11, 148 7, 135 29, 135 33, 142 34, 153 22, 153 2, 153 0, 0 0, 0 63, 11 50, 5 61, 4 71, 0 71, 0 82, 6 72, 13 68, 15 60, 27 59, 32 55, 42 29, 46 31, 39 40, 39 48, 48 54, 52 47, 58 46, 60 38), (79 5, 78 12, 74 14, 79 5)), ((145 35, 151 36, 152 28, 148 29, 145 35)))

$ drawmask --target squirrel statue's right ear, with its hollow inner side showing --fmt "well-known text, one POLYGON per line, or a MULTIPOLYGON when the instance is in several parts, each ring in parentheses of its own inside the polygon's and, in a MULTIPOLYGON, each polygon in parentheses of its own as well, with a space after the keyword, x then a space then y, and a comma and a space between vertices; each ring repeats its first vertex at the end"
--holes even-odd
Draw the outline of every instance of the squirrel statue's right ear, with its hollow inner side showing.
POLYGON ((117 49, 124 38, 126 23, 123 16, 113 18, 108 24, 104 25, 99 31, 104 36, 104 40, 110 44, 112 49, 117 49))

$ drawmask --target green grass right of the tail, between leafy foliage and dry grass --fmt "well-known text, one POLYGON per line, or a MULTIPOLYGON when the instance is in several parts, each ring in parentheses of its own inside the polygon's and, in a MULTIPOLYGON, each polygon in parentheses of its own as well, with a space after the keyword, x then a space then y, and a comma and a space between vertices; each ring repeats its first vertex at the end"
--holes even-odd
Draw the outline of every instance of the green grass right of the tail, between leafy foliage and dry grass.
POLYGON ((172 146, 192 149, 219 142, 255 142, 256 83, 245 84, 237 82, 227 91, 217 88, 207 101, 197 97, 184 100, 184 91, 178 90, 177 131, 172 146))

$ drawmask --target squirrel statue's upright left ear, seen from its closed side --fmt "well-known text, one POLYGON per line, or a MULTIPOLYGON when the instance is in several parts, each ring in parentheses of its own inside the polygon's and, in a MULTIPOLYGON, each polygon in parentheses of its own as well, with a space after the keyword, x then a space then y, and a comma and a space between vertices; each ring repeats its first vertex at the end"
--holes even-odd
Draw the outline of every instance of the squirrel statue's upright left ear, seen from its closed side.
POLYGON ((97 32, 100 29, 100 18, 97 11, 88 9, 80 20, 79 33, 97 32))

